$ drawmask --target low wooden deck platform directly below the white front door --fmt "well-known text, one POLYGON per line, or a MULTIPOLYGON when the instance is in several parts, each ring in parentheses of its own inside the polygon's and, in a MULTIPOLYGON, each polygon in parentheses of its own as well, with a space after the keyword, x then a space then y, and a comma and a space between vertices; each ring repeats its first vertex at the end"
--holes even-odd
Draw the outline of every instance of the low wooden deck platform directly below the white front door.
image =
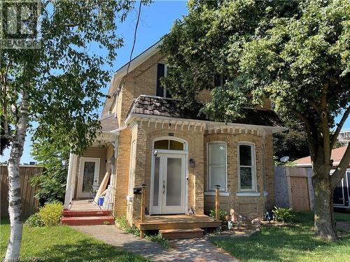
POLYGON ((205 215, 148 215, 145 221, 136 221, 139 230, 160 230, 160 229, 188 229, 188 228, 217 228, 221 226, 221 221, 216 221, 212 217, 205 215))

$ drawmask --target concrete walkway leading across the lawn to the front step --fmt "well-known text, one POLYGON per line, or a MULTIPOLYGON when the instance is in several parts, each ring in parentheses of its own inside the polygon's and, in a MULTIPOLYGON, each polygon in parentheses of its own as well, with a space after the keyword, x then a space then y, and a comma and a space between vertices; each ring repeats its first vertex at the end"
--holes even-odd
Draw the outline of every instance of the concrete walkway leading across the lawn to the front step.
POLYGON ((172 246, 166 251, 160 245, 148 240, 140 240, 136 236, 125 233, 116 226, 72 226, 76 230, 102 240, 109 245, 144 256, 152 261, 235 261, 239 260, 227 252, 218 249, 205 238, 192 240, 170 240, 172 246))

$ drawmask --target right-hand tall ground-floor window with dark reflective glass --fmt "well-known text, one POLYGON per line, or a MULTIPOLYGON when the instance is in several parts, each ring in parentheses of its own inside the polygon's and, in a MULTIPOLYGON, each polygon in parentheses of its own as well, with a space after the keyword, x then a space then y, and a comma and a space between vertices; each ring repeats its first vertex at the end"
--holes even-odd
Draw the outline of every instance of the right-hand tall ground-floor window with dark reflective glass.
POLYGON ((238 144, 238 177, 239 191, 257 191, 255 146, 253 144, 238 144))

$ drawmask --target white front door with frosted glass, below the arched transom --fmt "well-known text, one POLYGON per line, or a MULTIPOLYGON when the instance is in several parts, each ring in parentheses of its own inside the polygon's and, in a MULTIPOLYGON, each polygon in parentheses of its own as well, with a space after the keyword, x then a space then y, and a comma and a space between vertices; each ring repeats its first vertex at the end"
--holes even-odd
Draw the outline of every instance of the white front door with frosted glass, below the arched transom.
POLYGON ((153 157, 151 214, 186 213, 186 154, 153 157))

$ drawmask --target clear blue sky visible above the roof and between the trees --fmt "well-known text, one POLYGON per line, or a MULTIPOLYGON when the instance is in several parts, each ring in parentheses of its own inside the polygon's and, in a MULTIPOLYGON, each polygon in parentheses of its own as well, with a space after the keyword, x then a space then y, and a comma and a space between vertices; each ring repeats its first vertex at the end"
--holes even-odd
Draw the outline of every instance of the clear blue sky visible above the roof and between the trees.
MULTIPOLYGON (((134 48, 133 57, 136 57, 137 54, 140 54, 153 45, 153 43, 157 42, 163 35, 167 34, 171 29, 173 22, 187 13, 186 1, 155 0, 150 6, 142 6, 141 19, 137 31, 137 42, 134 48)), ((109 68, 110 75, 113 75, 120 66, 123 66, 129 61, 132 42, 134 41, 136 22, 137 10, 133 10, 125 22, 119 24, 117 32, 119 36, 123 37, 124 46, 118 50, 118 57, 116 58, 113 67, 109 68)), ((108 88, 109 83, 102 88, 102 91, 106 94, 108 88)), ((339 119, 337 119, 337 121, 339 121, 339 119)), ((350 119, 346 121, 344 128, 350 128, 350 119)), ((30 137, 27 136, 21 163, 34 161, 30 156, 30 145, 30 137)), ((7 160, 8 155, 9 150, 6 150, 3 157, 1 157, 1 161, 7 160)))

